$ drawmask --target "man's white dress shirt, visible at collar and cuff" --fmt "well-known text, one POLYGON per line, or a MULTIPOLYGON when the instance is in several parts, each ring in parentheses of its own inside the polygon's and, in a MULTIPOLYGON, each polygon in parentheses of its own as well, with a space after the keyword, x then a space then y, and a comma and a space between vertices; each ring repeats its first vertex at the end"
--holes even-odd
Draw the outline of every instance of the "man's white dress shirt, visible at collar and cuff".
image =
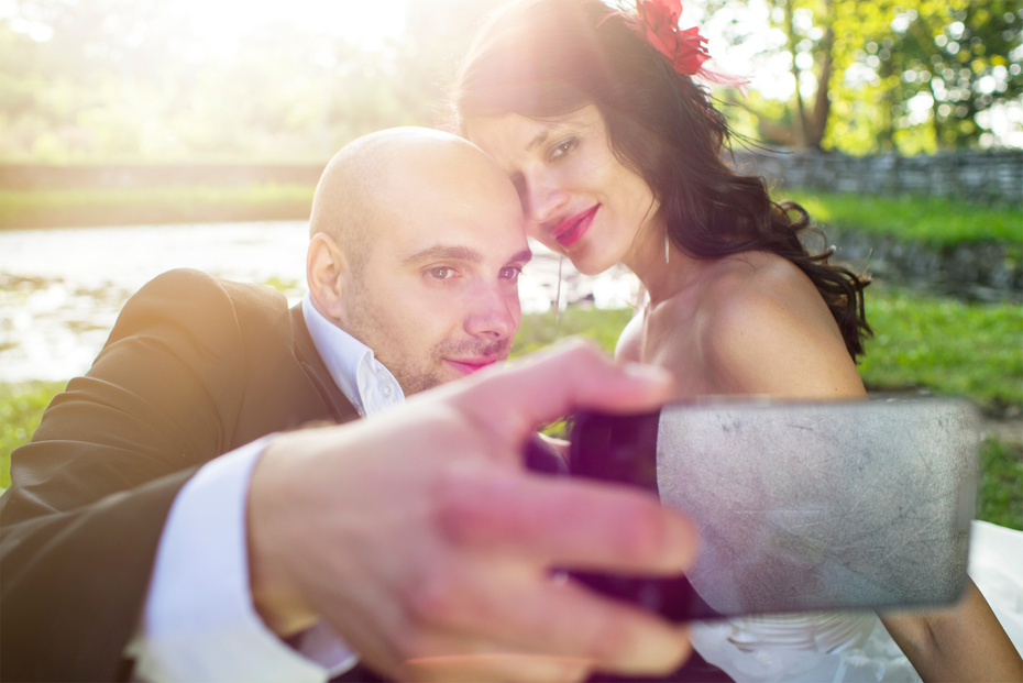
MULTIPOLYGON (((359 414, 405 400, 373 351, 326 319, 307 294, 302 315, 330 376, 359 414)), ((292 649, 256 614, 249 591, 249 480, 268 437, 206 465, 178 492, 156 552, 145 608, 128 647, 140 681, 321 683, 358 657, 326 625, 292 649)))

